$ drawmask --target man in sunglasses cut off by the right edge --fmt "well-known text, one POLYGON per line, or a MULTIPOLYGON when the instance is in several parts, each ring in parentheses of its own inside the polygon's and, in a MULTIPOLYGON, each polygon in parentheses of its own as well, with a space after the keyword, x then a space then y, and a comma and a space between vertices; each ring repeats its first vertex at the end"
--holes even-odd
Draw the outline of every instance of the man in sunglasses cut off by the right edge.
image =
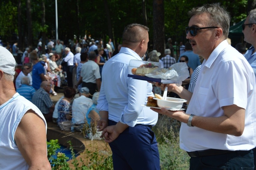
POLYGON ((256 76, 256 9, 249 12, 244 24, 242 25, 244 40, 252 46, 245 53, 245 58, 251 65, 256 76))

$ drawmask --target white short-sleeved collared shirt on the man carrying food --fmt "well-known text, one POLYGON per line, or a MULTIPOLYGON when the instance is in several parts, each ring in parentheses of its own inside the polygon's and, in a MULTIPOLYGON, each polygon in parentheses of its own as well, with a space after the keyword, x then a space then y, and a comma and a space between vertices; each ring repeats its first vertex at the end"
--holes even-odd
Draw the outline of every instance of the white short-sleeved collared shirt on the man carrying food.
POLYGON ((256 145, 256 86, 254 72, 245 57, 221 42, 204 60, 188 105, 187 114, 203 117, 224 115, 223 106, 237 105, 245 109, 242 136, 232 136, 188 127, 182 123, 180 147, 185 151, 206 149, 250 150, 256 145))

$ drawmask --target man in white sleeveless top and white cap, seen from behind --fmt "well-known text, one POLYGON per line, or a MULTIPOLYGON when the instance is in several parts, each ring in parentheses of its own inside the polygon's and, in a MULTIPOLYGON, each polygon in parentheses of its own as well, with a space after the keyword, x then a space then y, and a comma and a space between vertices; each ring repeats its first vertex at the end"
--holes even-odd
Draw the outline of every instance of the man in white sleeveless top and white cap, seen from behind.
POLYGON ((47 124, 40 110, 14 88, 15 59, 0 46, 0 169, 51 169, 47 124))

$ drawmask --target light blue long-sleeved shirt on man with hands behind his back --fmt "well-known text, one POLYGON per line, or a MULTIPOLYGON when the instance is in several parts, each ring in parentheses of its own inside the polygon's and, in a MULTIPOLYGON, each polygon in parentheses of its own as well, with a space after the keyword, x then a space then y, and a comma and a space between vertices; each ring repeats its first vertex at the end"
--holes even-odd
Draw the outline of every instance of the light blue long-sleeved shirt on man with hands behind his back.
POLYGON ((121 47, 120 52, 104 64, 97 109, 108 111, 108 119, 131 127, 155 125, 158 114, 141 106, 147 103, 148 96, 154 96, 152 85, 127 77, 132 59, 142 60, 133 50, 121 47))

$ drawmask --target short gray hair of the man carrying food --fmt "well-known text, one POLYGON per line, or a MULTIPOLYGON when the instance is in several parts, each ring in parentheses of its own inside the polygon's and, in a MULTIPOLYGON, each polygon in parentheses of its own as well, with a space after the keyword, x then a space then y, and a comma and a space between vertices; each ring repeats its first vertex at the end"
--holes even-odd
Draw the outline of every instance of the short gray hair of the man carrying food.
POLYGON ((210 21, 206 27, 215 26, 222 28, 224 38, 226 39, 229 33, 230 14, 220 6, 220 3, 205 4, 201 7, 195 7, 188 12, 190 17, 204 13, 210 14, 210 21))

